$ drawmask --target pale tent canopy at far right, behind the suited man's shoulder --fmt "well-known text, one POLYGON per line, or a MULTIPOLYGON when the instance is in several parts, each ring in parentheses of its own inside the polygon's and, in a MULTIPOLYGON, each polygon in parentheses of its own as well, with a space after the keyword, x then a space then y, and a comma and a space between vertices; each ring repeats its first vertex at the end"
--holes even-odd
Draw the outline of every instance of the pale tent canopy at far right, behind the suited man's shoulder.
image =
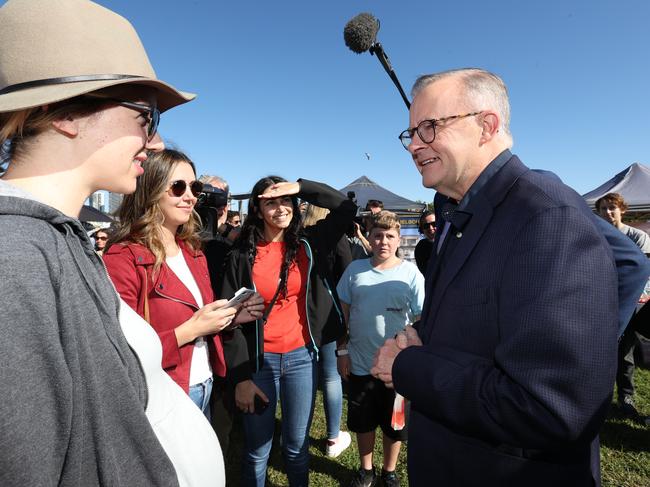
POLYGON ((650 211, 650 167, 635 162, 582 197, 593 208, 607 193, 623 196, 628 211, 650 211))

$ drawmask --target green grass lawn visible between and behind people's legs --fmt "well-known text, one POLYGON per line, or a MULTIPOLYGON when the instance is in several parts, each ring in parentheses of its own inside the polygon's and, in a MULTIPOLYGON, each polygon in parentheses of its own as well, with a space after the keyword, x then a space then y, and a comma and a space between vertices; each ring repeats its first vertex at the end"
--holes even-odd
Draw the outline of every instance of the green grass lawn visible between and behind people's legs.
MULTIPOLYGON (((650 371, 637 369, 635 374, 637 386, 637 409, 650 415, 650 371)), ((325 415, 323 413, 322 396, 320 391, 316 399, 314 421, 312 423, 310 486, 346 486, 359 468, 356 439, 353 435, 352 446, 336 459, 325 456, 325 415)), ((346 403, 343 405, 341 424, 345 428, 346 403)), ((280 417, 278 412, 277 417, 280 417)), ((279 421, 276 421, 276 434, 269 461, 267 486, 284 487, 288 485, 283 473, 282 453, 278 443, 279 421)), ((378 439, 380 435, 378 434, 378 439)), ((228 486, 239 485, 241 465, 241 446, 243 436, 241 429, 236 428, 231 439, 232 447, 226 459, 226 479, 228 486)), ((375 467, 381 468, 381 441, 376 442, 375 467)), ((608 418, 601 433, 601 462, 603 487, 650 487, 650 428, 637 425, 623 419, 616 407, 608 418)), ((402 485, 408 485, 406 474, 406 444, 402 445, 398 474, 402 485)))

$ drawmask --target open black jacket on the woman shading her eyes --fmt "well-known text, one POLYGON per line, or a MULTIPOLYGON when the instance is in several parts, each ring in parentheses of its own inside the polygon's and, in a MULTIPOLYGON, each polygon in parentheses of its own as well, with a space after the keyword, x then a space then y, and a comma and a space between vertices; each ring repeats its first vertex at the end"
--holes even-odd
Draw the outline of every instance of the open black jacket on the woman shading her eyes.
MULTIPOLYGON (((326 184, 298 180, 302 200, 328 208, 323 220, 304 230, 301 242, 309 258, 307 285, 307 321, 313 346, 318 348, 345 333, 340 304, 336 297, 335 270, 332 254, 357 212, 357 206, 343 194, 326 184)), ((220 297, 230 297, 239 288, 254 288, 250 258, 235 245, 228 255, 223 273, 220 297)), ((226 332, 224 352, 228 379, 237 384, 250 379, 264 362, 264 326, 260 320, 245 323, 226 332)))

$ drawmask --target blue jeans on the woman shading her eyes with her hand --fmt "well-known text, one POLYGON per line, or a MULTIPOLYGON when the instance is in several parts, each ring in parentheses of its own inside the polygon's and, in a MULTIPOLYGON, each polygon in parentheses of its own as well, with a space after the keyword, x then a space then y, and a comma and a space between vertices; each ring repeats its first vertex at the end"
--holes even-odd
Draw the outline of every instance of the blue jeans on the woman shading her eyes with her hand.
POLYGON ((282 452, 291 487, 309 482, 309 427, 316 395, 314 352, 300 347, 288 353, 264 353, 264 365, 253 382, 269 398, 262 414, 244 414, 246 451, 242 486, 263 486, 273 444, 275 409, 282 403, 282 452))

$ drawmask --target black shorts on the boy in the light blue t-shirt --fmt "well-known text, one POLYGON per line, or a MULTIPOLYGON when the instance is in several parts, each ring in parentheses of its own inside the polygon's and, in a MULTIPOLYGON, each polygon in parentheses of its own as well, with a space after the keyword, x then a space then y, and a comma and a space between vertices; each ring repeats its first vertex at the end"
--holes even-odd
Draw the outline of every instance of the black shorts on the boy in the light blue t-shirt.
POLYGON ((405 426, 394 430, 391 423, 395 391, 371 375, 350 374, 348 380, 348 429, 355 433, 369 433, 381 427, 391 440, 405 441, 408 436, 409 406, 406 404, 405 426))

